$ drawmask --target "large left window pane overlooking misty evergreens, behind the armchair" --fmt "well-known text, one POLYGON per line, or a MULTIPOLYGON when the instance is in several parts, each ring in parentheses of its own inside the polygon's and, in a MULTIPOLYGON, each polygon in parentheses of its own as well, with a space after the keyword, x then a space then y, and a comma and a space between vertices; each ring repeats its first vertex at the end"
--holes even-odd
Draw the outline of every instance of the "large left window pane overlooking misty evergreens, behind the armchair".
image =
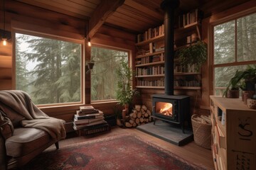
POLYGON ((80 103, 82 44, 16 33, 16 89, 37 105, 80 103))

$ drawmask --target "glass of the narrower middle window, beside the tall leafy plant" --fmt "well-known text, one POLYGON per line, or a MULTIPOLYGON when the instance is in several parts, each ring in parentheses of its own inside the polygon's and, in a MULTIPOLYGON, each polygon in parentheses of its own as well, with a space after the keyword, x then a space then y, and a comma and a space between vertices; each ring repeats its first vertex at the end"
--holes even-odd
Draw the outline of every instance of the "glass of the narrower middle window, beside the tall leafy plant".
POLYGON ((127 61, 128 52, 92 47, 92 60, 95 65, 91 71, 91 100, 113 100, 117 89, 116 69, 122 60, 127 61))

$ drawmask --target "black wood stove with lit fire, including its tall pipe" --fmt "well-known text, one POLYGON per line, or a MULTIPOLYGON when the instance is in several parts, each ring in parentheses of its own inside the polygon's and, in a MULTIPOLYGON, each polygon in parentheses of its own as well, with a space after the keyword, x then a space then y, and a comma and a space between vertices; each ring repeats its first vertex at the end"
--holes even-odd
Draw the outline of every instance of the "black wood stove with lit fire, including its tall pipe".
POLYGON ((164 0, 161 8, 164 10, 164 72, 165 94, 155 94, 153 101, 154 124, 156 119, 180 124, 184 133, 184 122, 189 118, 189 96, 174 95, 174 11, 179 0, 164 0), (164 108, 167 106, 167 108, 164 108), (163 111, 164 110, 164 111, 163 111))

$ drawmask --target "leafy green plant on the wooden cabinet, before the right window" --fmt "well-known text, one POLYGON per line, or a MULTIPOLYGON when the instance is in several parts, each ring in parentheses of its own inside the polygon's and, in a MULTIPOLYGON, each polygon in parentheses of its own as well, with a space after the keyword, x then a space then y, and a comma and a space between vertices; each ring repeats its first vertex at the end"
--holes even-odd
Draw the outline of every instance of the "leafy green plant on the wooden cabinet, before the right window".
MULTIPOLYGON (((234 77, 230 79, 227 88, 224 91, 223 96, 228 96, 228 93, 232 89, 242 89, 243 91, 255 91, 256 84, 256 65, 248 65, 247 69, 236 71, 234 77)), ((239 98, 239 96, 237 96, 239 98)))

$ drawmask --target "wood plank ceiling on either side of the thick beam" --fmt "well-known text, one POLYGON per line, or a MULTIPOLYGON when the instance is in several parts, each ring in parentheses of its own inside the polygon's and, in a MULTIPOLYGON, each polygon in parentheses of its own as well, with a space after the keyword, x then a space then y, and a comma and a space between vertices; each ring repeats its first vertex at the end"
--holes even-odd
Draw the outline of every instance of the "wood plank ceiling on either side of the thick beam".
MULTIPOLYGON (((125 0, 121 6, 113 8, 107 16, 97 10, 102 4, 110 5, 110 0, 16 0, 33 6, 47 8, 51 11, 64 13, 76 18, 82 18, 90 21, 93 15, 102 15, 98 22, 104 25, 125 30, 129 33, 142 33, 148 28, 159 26, 164 21, 164 12, 160 8, 162 0, 125 0), (106 3, 106 1, 109 1, 106 3)), ((198 8, 205 12, 206 15, 223 11, 225 8, 241 4, 248 0, 180 0, 178 11, 189 11, 192 8, 198 8)), ((102 7, 102 6, 101 6, 102 7)), ((94 16, 95 18, 95 16, 94 16)))

